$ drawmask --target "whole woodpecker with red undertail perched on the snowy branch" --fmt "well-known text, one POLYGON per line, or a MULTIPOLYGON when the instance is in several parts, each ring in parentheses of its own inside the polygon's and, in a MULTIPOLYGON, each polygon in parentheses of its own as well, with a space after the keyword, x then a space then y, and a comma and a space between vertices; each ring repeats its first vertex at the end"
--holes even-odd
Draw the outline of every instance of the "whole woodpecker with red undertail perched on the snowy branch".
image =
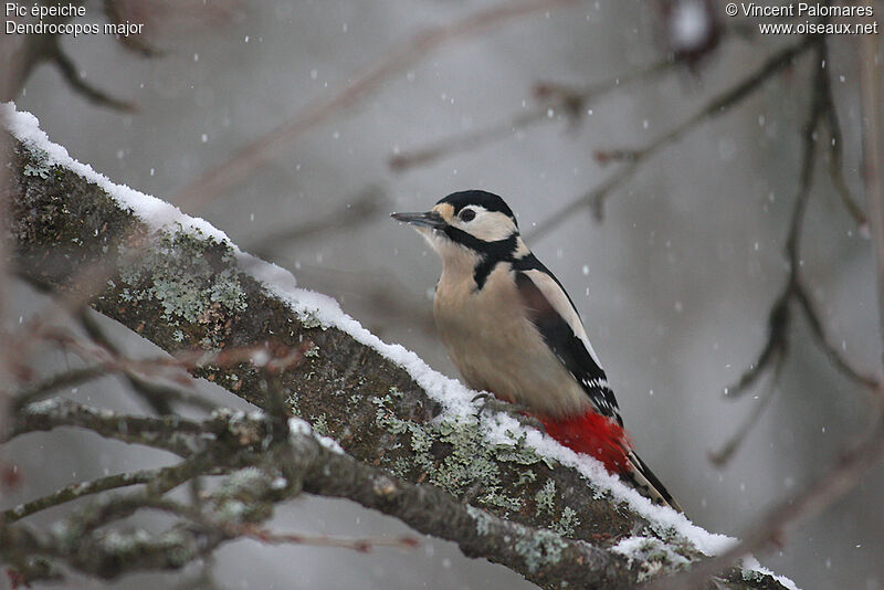
POLYGON ((454 192, 425 213, 393 213, 442 257, 433 315, 466 383, 523 407, 546 432, 681 510, 632 451, 604 370, 561 283, 522 240, 496 194, 454 192))

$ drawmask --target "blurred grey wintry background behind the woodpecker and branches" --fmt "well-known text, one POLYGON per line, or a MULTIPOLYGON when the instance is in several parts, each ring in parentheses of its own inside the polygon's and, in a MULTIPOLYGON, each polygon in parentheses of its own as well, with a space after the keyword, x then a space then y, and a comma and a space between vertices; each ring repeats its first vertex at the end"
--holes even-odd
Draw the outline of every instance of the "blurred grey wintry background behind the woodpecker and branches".
MULTIPOLYGON (((98 4, 86 3, 86 21, 102 21, 98 4)), ((495 6, 484 0, 208 4, 219 10, 206 19, 199 13, 202 2, 157 2, 167 12, 147 39, 164 53, 148 60, 106 36, 65 40, 82 75, 136 102, 137 113, 90 105, 48 66, 28 81, 19 107, 36 115, 74 158, 116 182, 173 200, 201 172, 308 102, 337 92, 410 35, 495 6)), ((600 0, 456 40, 397 71, 354 108, 277 149, 244 182, 187 212, 249 249, 275 232, 325 223, 369 191, 386 199, 379 211, 346 230, 270 244, 266 255, 291 270, 301 286, 336 297, 383 339, 455 376, 428 322, 440 264, 414 232, 387 217, 389 211, 424 210, 454 190, 482 188, 504 197, 527 233, 617 170, 618 164, 600 165, 596 150, 645 144, 793 39, 728 35, 693 69, 677 67, 587 105, 592 114, 576 128, 554 112, 550 120, 499 141, 404 172, 390 169, 390 156, 504 123, 536 105, 532 88, 538 81, 581 85, 659 61, 665 53, 660 20, 650 2, 600 0)), ((864 207, 855 40, 832 38, 830 48, 845 175, 864 207)), ((769 394, 759 386, 733 401, 723 388, 757 358, 768 312, 786 281, 782 245, 809 101, 807 62, 654 156, 611 196, 603 222, 581 210, 529 244, 575 298, 644 460, 691 518, 730 535, 861 436, 872 408, 867 393, 832 368, 796 312, 790 356, 769 408, 729 464, 717 468, 708 460, 769 394)), ((876 375, 882 345, 870 242, 839 203, 823 165, 818 168, 802 272, 831 340, 855 367, 876 375)), ((20 304, 12 314, 27 316, 33 294, 21 285, 14 293, 20 304)), ((150 348, 140 341, 127 346, 150 348)), ((243 405, 206 389, 223 403, 243 405)), ((71 396, 144 411, 113 380, 71 396)), ((4 506, 156 461, 144 450, 135 454, 73 431, 22 438, 4 455, 18 462, 24 477, 4 506)), ((884 587, 883 491, 878 465, 822 516, 789 530, 783 546, 761 561, 806 589, 884 587)), ((397 521, 347 503, 315 498, 281 510, 274 525, 369 537, 407 533, 397 521)), ((412 552, 368 555, 243 541, 219 552, 217 571, 228 588, 529 587, 504 568, 469 560, 453 545, 432 539, 412 552)), ((114 587, 178 579, 145 576, 114 587)), ((72 587, 96 582, 77 579, 72 587)))

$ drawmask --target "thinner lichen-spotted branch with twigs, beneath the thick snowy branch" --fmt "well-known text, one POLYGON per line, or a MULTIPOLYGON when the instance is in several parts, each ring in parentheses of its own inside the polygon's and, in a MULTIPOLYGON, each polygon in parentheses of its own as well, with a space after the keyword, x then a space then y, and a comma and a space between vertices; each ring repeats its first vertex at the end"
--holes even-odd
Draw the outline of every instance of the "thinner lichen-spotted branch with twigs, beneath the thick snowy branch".
MULTIPOLYGON (((67 417, 80 414, 84 423, 95 409, 76 405, 75 409, 45 407, 34 410, 56 422, 67 417)), ((127 417, 131 420, 134 417, 127 417)), ((628 560, 615 552, 594 545, 560 537, 550 530, 536 529, 491 515, 478 508, 464 505, 442 489, 421 486, 398 480, 383 471, 357 462, 352 457, 325 447, 312 433, 293 433, 290 439, 281 441, 276 447, 264 452, 263 439, 273 429, 272 418, 266 414, 244 417, 241 414, 218 414, 203 423, 183 421, 188 430, 201 431, 204 434, 221 435, 246 429, 253 436, 232 439, 225 444, 231 446, 230 453, 219 453, 215 444, 207 443, 207 450, 197 452, 192 459, 178 465, 159 470, 155 477, 145 481, 145 473, 133 474, 128 482, 116 480, 114 487, 147 483, 144 492, 125 496, 110 496, 93 503, 67 517, 64 525, 53 527, 49 538, 39 535, 30 527, 11 527, 9 521, 0 526, 0 549, 7 555, 27 551, 53 558, 65 558, 76 569, 99 576, 115 578, 124 571, 139 569, 170 569, 186 565, 189 559, 180 558, 172 563, 171 550, 186 551, 187 556, 197 557, 201 552, 213 549, 221 542, 246 536, 260 540, 278 542, 295 539, 282 539, 256 533, 249 523, 252 517, 242 517, 243 523, 230 521, 230 498, 239 502, 244 495, 251 496, 252 504, 275 502, 283 497, 292 497, 302 489, 307 493, 343 497, 355 501, 362 506, 394 516, 415 530, 459 544, 463 552, 471 557, 487 557, 492 561, 507 565, 525 575, 528 579, 544 582, 564 580, 586 588, 619 589, 634 584, 635 572, 628 560), (283 472, 287 474, 284 485, 277 485, 278 477, 271 474, 278 461, 273 457, 287 457, 283 472), (267 459, 270 457, 270 459, 267 459), (210 508, 199 510, 162 497, 165 492, 187 481, 194 474, 209 470, 230 472, 234 467, 241 471, 244 465, 255 471, 270 472, 269 475, 256 473, 245 478, 235 493, 221 492, 210 496, 210 508), (287 467, 287 468, 286 468, 287 467), (139 480, 139 481, 136 481, 139 480), (267 483, 270 482, 270 483, 267 483), (295 483, 296 482, 296 483, 295 483), (176 526, 160 535, 133 535, 126 542, 108 542, 108 537, 98 528, 108 523, 130 516, 141 508, 160 509, 185 516, 192 525, 185 528, 176 526), (72 545, 71 538, 78 542, 72 545), (7 546, 7 542, 10 545, 7 546), (88 548, 84 551, 83 548, 88 548), (196 548, 194 548, 196 547, 196 548), (123 560, 125 551, 125 561, 123 560)), ((117 435, 125 432, 122 421, 117 435)), ((116 476, 115 476, 116 477, 116 476)), ((242 480, 244 475, 240 476, 242 480)), ((99 485, 109 486, 105 478, 88 487, 97 492, 99 485)), ((84 495, 85 492, 82 495, 84 495)), ((73 498, 67 498, 73 499, 73 498)), ((59 497, 38 501, 42 506, 32 503, 31 513, 63 499, 59 497)), ((25 509, 13 509, 12 516, 18 519, 25 509)), ((236 513, 240 514, 240 513, 236 513)), ((262 510, 255 510, 254 518, 261 519, 262 510)), ((403 542, 397 542, 402 546, 403 542)), ((411 544, 413 545, 413 542, 411 544)))

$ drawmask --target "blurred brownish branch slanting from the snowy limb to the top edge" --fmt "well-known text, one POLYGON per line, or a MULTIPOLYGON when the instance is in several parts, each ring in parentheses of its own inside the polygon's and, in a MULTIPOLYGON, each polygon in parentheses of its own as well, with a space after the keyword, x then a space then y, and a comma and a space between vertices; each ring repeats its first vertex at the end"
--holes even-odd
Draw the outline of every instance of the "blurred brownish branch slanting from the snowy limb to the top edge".
POLYGON ((218 198, 230 186, 253 173, 283 146, 291 144, 304 131, 325 122, 329 116, 351 108, 366 98, 392 75, 422 60, 442 45, 455 40, 478 35, 504 22, 571 6, 575 0, 525 0, 518 3, 506 2, 450 24, 431 27, 420 31, 393 46, 362 71, 352 76, 330 96, 324 96, 303 106, 295 116, 262 135, 248 146, 239 149, 227 161, 203 172, 200 178, 186 186, 177 194, 175 202, 183 209, 193 210, 206 200, 218 198))

